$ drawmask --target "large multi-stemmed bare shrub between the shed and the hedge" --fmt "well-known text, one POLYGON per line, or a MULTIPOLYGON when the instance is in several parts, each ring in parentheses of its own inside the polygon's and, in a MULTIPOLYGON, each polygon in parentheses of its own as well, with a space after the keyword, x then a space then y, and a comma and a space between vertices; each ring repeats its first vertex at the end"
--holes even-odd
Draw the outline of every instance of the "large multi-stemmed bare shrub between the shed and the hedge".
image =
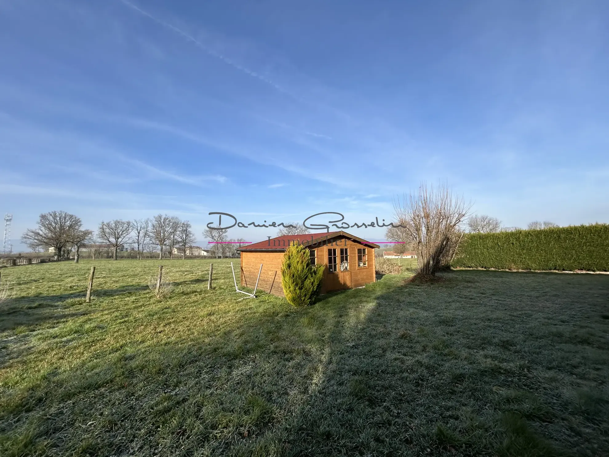
POLYGON ((418 273, 435 275, 449 263, 463 237, 460 225, 471 204, 455 196, 447 185, 437 188, 421 184, 418 193, 394 202, 395 219, 406 221, 410 239, 414 240, 418 273))

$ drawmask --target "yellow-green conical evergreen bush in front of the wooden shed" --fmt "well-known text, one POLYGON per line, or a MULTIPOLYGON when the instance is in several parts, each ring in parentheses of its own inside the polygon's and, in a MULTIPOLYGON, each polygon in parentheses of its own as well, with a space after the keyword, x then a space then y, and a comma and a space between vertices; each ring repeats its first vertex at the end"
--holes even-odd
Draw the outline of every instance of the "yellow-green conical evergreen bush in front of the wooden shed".
POLYGON ((322 288, 323 268, 311 266, 306 247, 289 246, 281 264, 281 284, 287 301, 294 306, 311 305, 322 288))

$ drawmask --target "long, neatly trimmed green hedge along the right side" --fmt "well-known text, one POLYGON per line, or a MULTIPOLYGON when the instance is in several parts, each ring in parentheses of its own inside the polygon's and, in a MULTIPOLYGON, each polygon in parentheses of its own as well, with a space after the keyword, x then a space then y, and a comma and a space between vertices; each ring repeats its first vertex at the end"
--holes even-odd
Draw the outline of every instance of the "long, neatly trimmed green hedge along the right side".
POLYGON ((470 233, 451 263, 455 267, 609 271, 609 225, 470 233))

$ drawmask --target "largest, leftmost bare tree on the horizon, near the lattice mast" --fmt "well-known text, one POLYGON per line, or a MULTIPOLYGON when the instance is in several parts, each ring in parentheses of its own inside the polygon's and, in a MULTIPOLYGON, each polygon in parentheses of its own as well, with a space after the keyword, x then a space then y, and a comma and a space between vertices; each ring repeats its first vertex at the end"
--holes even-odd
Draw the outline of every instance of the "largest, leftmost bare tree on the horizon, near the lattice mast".
POLYGON ((66 211, 51 211, 40 214, 38 228, 28 228, 21 241, 31 249, 52 249, 55 260, 63 257, 69 247, 69 235, 82 227, 82 221, 66 211))

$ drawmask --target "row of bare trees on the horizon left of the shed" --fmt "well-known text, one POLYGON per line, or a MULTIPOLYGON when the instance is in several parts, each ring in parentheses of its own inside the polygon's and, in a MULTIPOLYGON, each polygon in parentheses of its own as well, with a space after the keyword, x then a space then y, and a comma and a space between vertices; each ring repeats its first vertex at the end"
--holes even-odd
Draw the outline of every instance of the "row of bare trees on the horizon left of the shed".
MULTIPOLYGON (((233 257, 236 249, 244 246, 244 239, 228 239, 227 233, 226 229, 211 228, 203 232, 206 238, 214 242, 211 255, 233 257)), ((21 241, 35 252, 41 249, 53 252, 56 259, 69 257, 74 252, 74 261, 78 262, 83 247, 92 249, 94 256, 105 246, 116 260, 125 244, 135 248, 138 259, 143 258, 146 251, 151 255, 158 252, 158 258, 163 258, 164 253, 173 258, 174 252, 185 258, 187 249, 196 243, 196 237, 189 221, 167 214, 133 221, 102 221, 94 232, 83 228, 82 220, 74 214, 50 211, 40 214, 37 228, 28 228, 21 241)))

